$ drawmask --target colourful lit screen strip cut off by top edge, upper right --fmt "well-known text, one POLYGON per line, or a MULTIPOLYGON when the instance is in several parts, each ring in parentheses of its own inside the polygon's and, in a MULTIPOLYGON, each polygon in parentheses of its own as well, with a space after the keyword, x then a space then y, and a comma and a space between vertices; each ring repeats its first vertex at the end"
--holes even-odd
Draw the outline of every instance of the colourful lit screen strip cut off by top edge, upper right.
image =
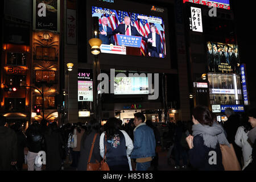
POLYGON ((230 10, 229 0, 214 0, 214 1, 183 0, 183 3, 185 2, 192 2, 200 5, 213 6, 213 7, 230 10))

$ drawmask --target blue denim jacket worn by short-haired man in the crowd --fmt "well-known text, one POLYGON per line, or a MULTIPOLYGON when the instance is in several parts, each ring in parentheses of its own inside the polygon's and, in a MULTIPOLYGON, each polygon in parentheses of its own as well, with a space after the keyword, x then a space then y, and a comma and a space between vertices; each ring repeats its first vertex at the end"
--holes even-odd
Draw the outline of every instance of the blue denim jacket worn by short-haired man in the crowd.
POLYGON ((135 128, 133 146, 132 159, 155 156, 154 131, 146 123, 142 123, 141 126, 135 128))

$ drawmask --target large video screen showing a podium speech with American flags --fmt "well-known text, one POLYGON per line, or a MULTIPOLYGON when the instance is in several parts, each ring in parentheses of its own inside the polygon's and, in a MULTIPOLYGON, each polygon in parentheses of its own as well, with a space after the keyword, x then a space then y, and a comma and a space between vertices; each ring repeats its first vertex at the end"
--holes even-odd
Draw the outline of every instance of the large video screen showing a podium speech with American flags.
POLYGON ((92 6, 99 18, 101 52, 166 57, 166 35, 161 17, 92 6))

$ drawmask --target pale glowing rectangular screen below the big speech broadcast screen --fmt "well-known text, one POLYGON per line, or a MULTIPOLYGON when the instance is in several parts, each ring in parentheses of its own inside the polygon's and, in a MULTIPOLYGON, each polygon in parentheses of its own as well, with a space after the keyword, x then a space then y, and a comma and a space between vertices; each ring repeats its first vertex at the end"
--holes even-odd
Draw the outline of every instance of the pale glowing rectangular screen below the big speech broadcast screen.
POLYGON ((115 77, 114 94, 148 94, 147 77, 115 77))

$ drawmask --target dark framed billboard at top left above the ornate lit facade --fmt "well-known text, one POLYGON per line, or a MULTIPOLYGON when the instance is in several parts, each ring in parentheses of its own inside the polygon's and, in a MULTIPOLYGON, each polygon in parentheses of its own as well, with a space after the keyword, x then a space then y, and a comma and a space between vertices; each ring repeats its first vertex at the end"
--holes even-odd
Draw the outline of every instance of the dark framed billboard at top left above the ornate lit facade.
POLYGON ((60 0, 33 1, 33 30, 60 32, 60 0))

